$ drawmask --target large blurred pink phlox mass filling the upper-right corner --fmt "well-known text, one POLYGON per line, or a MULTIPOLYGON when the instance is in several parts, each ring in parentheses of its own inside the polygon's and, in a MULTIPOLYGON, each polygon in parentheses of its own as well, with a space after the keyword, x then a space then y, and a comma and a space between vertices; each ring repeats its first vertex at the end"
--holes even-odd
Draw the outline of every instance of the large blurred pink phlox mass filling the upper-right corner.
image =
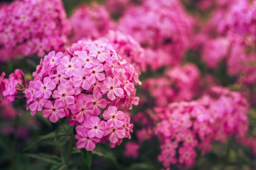
POLYGON ((209 68, 216 68, 225 59, 228 74, 237 83, 250 86, 256 84, 255 5, 247 0, 234 0, 225 8, 217 8, 209 21, 201 24, 192 45, 198 51, 201 47, 202 58, 209 68))

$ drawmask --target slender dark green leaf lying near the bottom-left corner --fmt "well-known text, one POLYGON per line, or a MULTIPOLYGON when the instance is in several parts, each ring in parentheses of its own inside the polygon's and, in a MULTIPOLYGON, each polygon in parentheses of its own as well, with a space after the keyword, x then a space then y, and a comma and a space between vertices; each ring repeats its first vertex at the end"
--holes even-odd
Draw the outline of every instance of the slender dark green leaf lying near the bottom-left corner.
POLYGON ((47 162, 47 163, 51 163, 51 164, 62 163, 62 160, 58 156, 55 156, 55 155, 49 155, 49 154, 44 154, 44 153, 39 153, 39 154, 28 153, 25 155, 28 157, 35 158, 35 159, 39 159, 39 160, 47 162))

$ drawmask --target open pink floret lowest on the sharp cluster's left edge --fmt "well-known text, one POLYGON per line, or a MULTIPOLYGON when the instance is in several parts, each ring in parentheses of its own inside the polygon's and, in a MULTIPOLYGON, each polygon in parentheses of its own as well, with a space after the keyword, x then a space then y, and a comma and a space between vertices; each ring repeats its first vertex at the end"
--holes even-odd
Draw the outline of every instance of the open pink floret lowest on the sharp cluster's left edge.
POLYGON ((51 122, 55 123, 59 118, 65 117, 63 109, 63 103, 61 101, 55 101, 54 104, 51 101, 47 101, 43 105, 44 109, 42 115, 44 118, 49 118, 51 122))

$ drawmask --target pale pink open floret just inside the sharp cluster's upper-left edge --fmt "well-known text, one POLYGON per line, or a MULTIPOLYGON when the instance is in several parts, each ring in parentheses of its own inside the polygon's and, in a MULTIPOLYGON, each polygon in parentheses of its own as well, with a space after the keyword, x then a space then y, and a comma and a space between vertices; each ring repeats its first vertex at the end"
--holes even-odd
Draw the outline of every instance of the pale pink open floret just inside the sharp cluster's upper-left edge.
POLYGON ((58 66, 59 71, 66 74, 66 76, 71 77, 74 74, 74 70, 78 68, 76 65, 76 57, 69 58, 68 56, 64 56, 60 59, 60 65, 58 66))

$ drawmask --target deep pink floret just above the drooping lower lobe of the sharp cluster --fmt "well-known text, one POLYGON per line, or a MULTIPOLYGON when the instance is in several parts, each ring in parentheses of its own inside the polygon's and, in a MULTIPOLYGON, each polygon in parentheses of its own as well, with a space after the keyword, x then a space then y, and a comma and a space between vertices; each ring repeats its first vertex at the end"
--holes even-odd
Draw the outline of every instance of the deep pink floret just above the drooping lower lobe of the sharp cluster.
POLYGON ((107 101, 102 98, 101 92, 94 92, 93 95, 86 95, 85 100, 93 104, 94 115, 98 116, 100 114, 100 108, 105 108, 107 101))

